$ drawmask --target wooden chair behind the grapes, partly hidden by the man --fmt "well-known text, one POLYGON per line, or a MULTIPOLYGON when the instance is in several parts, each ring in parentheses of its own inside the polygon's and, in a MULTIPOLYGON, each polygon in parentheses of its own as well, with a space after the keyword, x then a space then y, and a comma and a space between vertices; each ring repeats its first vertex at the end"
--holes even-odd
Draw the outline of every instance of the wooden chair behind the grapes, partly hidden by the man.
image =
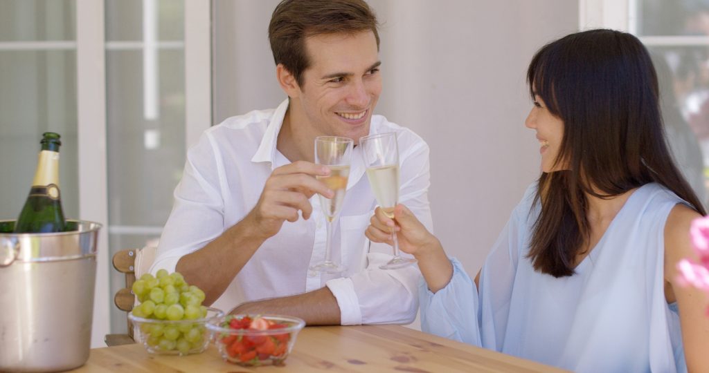
POLYGON ((131 288, 135 278, 147 273, 150 270, 152 261, 155 260, 155 251, 157 248, 153 246, 145 246, 144 248, 129 248, 118 251, 113 255, 113 268, 118 272, 125 273, 125 287, 118 290, 113 297, 113 303, 118 309, 125 311, 125 319, 128 323, 127 334, 106 334, 104 341, 108 346, 126 345, 135 343, 133 338, 133 323, 128 319, 128 312, 133 309, 135 304, 135 295, 131 288))

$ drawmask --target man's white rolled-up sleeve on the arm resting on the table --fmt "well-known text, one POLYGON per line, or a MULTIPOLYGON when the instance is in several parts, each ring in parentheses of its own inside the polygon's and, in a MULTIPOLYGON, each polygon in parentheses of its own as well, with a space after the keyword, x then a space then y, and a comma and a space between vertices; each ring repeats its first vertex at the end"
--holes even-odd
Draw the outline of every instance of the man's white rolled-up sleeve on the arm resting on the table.
MULTIPOLYGON (((413 212, 429 231, 433 224, 428 202, 430 166, 428 145, 413 132, 399 134, 399 202, 413 212), (407 144, 408 146, 401 146, 407 144), (410 145, 409 145, 410 144, 410 145), (405 150, 404 150, 405 149, 405 150)), ((327 286, 340 306, 342 325, 412 323, 418 311, 418 266, 381 270, 379 265, 391 259, 392 248, 385 243, 371 243, 367 268, 348 278, 330 280, 327 286)), ((401 256, 409 256, 401 253, 401 256)))

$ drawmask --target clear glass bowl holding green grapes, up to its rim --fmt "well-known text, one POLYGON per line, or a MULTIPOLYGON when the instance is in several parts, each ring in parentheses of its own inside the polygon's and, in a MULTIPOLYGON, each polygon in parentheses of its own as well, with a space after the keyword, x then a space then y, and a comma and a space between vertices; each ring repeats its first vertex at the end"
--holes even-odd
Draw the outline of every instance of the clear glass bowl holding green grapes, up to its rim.
POLYGON ((209 331, 206 325, 224 316, 219 309, 207 308, 207 314, 201 319, 177 321, 145 319, 128 314, 128 319, 136 326, 138 343, 143 343, 145 350, 160 355, 198 354, 209 345, 209 331))

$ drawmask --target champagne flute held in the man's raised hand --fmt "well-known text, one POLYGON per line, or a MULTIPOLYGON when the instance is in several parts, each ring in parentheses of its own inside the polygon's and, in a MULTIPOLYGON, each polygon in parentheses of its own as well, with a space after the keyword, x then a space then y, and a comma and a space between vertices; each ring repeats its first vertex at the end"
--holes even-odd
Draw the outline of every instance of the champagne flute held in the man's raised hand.
POLYGON ((340 216, 342 202, 347 192, 347 178, 350 176, 350 159, 354 140, 347 137, 320 136, 315 139, 315 163, 323 164, 330 168, 329 176, 317 176, 318 180, 328 185, 335 192, 335 197, 325 198, 320 196, 320 206, 328 224, 328 238, 325 241, 325 260, 311 266, 315 272, 340 273, 347 268, 332 260, 333 225, 340 216))

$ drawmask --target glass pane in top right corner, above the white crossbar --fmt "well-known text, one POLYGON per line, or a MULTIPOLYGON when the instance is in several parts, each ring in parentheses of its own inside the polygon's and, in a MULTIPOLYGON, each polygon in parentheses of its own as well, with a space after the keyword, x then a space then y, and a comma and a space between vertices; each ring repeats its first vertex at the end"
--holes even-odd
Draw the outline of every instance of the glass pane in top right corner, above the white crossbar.
POLYGON ((637 12, 640 36, 709 34, 707 0, 639 0, 637 12))

